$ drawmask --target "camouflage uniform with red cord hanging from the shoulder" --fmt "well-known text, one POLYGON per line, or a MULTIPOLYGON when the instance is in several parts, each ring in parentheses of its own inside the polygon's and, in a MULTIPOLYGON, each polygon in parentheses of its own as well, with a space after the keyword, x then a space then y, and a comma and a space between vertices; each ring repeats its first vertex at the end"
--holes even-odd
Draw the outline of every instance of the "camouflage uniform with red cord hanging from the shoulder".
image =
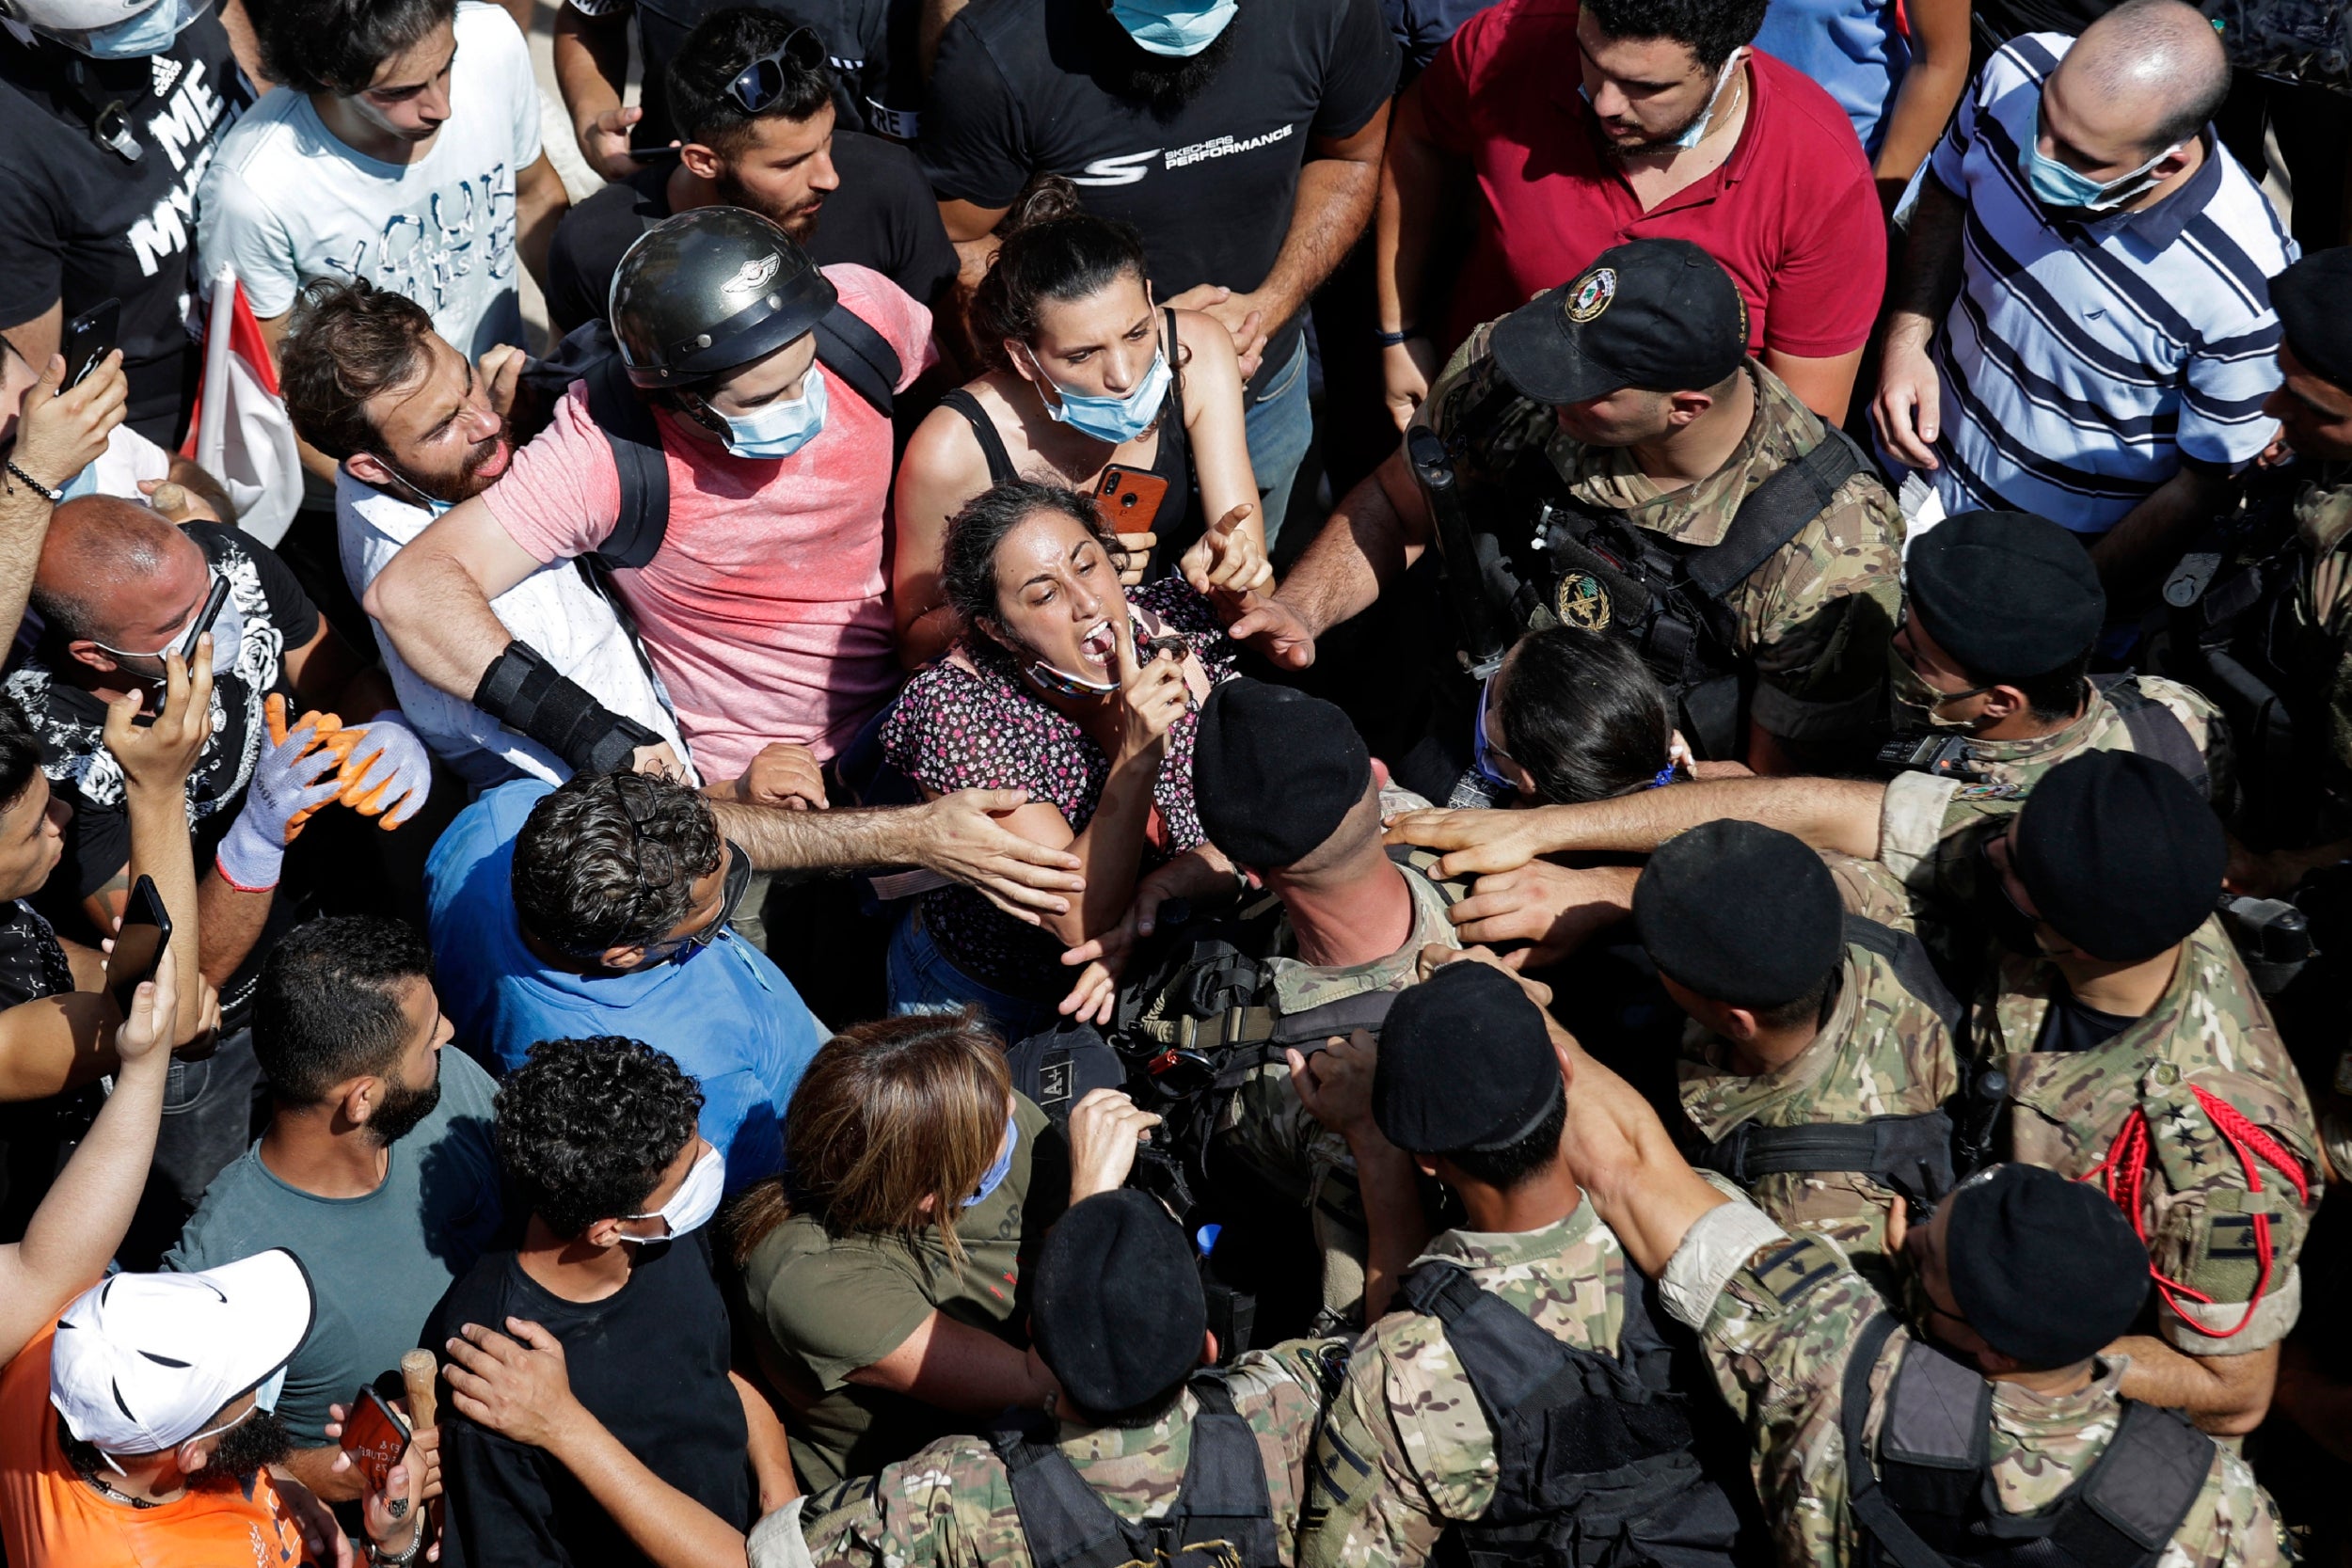
POLYGON ((2058 985, 2046 959, 2004 952, 1976 1001, 1971 1048, 2009 1074, 2009 1157, 2074 1180, 2091 1178, 2110 1159, 2131 1112, 2145 1110, 2150 1199, 2140 1218, 2150 1258, 2213 1302, 2159 1307, 2159 1331, 2192 1356, 2277 1345, 2303 1305, 2296 1258, 2319 1204, 2312 1159, 2319 1133, 2303 1079, 2220 919, 2190 933, 2157 1006, 2091 1051, 2034 1051, 2058 985), (2286 1175, 2260 1164, 2260 1190, 2253 1190, 2197 1088, 2284 1145, 2303 1166, 2310 1197, 2298 1197, 2286 1175), (2267 1215, 2274 1251, 2267 1288, 2260 1286, 2256 1215, 2267 1215), (2258 1288, 2260 1307, 2244 1331, 2227 1333, 2258 1288), (2183 1314, 2211 1333, 2197 1333, 2183 1314))

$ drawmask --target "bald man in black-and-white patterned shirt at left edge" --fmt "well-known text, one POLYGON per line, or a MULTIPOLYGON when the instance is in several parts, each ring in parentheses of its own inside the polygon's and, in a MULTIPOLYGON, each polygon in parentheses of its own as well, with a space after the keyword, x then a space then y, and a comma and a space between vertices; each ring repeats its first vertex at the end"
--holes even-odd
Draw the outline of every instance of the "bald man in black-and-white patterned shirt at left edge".
MULTIPOLYGON (((275 853, 285 853, 282 804, 303 797, 273 762, 261 703, 285 691, 296 715, 308 708, 348 719, 379 715, 388 729, 397 726, 397 715, 381 719, 393 708, 390 684, 379 670, 362 670, 270 550, 238 529, 174 527, 113 496, 66 501, 49 517, 33 574, 40 639, 7 677, 7 691, 40 733, 42 773, 73 809, 64 860, 42 896, 52 914, 82 924, 92 943, 111 936, 122 914, 132 825, 122 766, 101 741, 106 705, 136 693, 146 712, 160 710, 165 654, 188 642, 214 581, 228 583, 228 599, 212 625, 212 736, 188 776, 188 825, 200 867, 198 959, 221 990, 226 1027, 209 1060, 172 1065, 169 1135, 158 1150, 167 1192, 151 1192, 155 1201, 141 1211, 127 1267, 153 1267, 139 1253, 160 1255, 212 1175, 245 1152, 259 1079, 245 1032, 252 990, 245 971, 273 910, 280 924, 294 919, 292 900, 278 896, 268 842, 275 835, 275 853), (268 788, 254 788, 256 771, 268 788), (71 919, 75 912, 80 922, 71 919)), ((397 736, 383 741, 386 750, 400 750, 397 736)), ((414 736, 407 743, 423 752, 414 736)))

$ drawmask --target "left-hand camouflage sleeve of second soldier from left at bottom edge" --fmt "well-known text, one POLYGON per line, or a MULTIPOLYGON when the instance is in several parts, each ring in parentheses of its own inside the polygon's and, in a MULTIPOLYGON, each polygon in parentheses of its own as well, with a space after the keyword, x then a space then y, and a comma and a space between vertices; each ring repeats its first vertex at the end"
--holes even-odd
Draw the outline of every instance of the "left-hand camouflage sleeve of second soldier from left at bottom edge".
POLYGON ((1418 1568, 1494 1500, 1494 1432, 1432 1319, 1371 1326, 1348 1361, 1298 1519, 1298 1568, 1418 1568))

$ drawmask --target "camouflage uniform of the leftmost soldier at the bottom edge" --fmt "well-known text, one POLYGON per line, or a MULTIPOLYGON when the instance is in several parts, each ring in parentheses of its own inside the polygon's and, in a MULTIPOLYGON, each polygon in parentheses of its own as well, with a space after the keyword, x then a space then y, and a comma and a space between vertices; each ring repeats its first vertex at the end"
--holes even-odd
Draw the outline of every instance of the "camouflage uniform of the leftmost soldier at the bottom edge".
MULTIPOLYGON (((1228 1389, 1265 1460, 1282 1563, 1294 1535, 1315 1425, 1345 1340, 1284 1340, 1235 1359, 1228 1389)), ((1087 1486, 1127 1521, 1160 1519, 1176 1502, 1192 1458, 1200 1403, 1181 1394, 1150 1427, 1061 1422, 1054 1439, 1087 1486)), ((750 1568, 847 1563, 851 1568, 1025 1568, 1028 1537, 1011 1479, 985 1439, 950 1436, 870 1479, 842 1481, 753 1530, 750 1568), (807 1556, 797 1547, 807 1547, 807 1556)))

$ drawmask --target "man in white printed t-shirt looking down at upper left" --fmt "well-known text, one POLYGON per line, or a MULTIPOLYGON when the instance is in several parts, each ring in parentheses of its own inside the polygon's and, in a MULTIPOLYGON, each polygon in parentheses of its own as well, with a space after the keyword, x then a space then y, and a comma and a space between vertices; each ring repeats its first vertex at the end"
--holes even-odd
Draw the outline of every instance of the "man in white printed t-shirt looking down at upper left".
MULTIPOLYGON (((285 0, 263 54, 285 87, 205 176, 202 275, 235 268, 273 348, 318 277, 407 294, 468 360, 520 343, 515 268, 543 277, 564 188, 513 19, 480 0, 285 0)), ((325 454, 303 465, 334 477, 325 454)))

